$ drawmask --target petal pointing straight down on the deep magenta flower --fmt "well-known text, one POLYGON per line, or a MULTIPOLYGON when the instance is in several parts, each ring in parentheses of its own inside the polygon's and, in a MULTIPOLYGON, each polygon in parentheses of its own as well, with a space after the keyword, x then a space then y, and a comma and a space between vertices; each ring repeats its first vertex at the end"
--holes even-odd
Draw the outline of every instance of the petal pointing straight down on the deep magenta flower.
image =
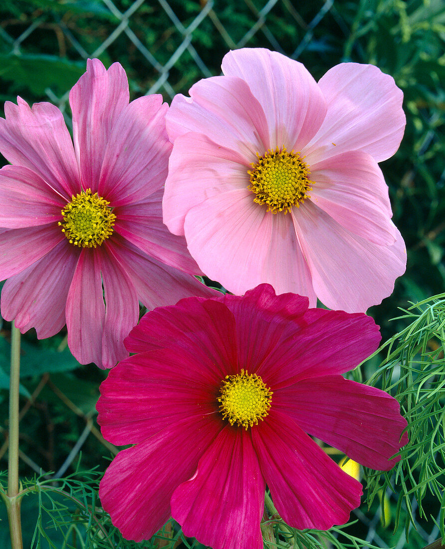
POLYGON ((228 425, 174 491, 172 516, 186 536, 213 549, 262 549, 265 488, 250 433, 228 425))

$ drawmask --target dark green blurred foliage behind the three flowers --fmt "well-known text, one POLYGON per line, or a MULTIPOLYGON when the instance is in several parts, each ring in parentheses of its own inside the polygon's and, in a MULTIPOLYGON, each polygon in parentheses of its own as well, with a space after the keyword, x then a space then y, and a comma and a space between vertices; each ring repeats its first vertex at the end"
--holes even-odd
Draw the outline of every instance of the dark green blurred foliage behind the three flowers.
MULTIPOLYGON (((388 339, 407 326, 404 317, 389 322, 398 316, 397 307, 445 288, 443 0, 2 0, 0 102, 15 102, 18 95, 30 104, 49 100, 70 126, 68 92, 85 71, 88 57, 98 57, 106 66, 119 61, 128 75, 131 99, 162 93, 170 103, 175 93, 187 94, 200 78, 220 74, 228 49, 244 46, 267 47, 298 59, 317 80, 342 61, 372 63, 392 75, 404 92, 405 136, 397 154, 381 167, 393 219, 407 244, 408 266, 392 296, 369 311, 388 339)), ((103 441, 94 420, 105 373, 78 365, 65 335, 63 331, 37 341, 30 330, 22 338, 20 467, 28 477, 33 470, 57 472, 59 477, 72 473, 75 463, 80 472, 96 465, 103 470, 116 452, 103 441)), ((1 336, 0 464, 5 469, 6 322, 1 336)), ((378 363, 370 361, 365 376, 378 363)), ((370 514, 365 506, 358 512, 357 531, 366 537, 372 527, 369 542, 401 549, 403 528, 393 535, 391 518, 383 526, 376 507, 380 509, 376 504, 370 514)), ((429 540, 431 528, 421 521, 417 526, 406 547, 423 547, 429 540)), ((0 522, 2 547, 8 547, 5 532, 7 525, 0 522)), ((32 532, 26 535, 32 537, 32 532)), ((167 546, 162 543, 153 546, 167 546)), ((48 544, 43 540, 41 547, 48 544)))

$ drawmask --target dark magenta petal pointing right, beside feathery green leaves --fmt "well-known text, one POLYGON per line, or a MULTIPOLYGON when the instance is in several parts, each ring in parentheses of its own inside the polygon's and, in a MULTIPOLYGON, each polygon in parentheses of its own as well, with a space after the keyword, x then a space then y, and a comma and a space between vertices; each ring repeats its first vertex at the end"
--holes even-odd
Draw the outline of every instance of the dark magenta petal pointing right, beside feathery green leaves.
POLYGON ((341 376, 305 379, 275 391, 274 410, 281 410, 309 435, 346 453, 365 467, 389 470, 390 457, 408 442, 407 421, 392 396, 341 376))

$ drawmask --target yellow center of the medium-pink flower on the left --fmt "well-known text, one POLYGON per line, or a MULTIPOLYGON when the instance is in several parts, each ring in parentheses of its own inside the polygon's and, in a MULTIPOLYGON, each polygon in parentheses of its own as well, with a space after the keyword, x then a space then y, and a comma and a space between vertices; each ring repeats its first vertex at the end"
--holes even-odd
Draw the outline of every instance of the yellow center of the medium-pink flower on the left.
POLYGON ((59 221, 62 232, 70 244, 81 248, 96 248, 113 232, 116 216, 109 208, 110 203, 91 189, 73 195, 62 210, 63 221, 59 221))

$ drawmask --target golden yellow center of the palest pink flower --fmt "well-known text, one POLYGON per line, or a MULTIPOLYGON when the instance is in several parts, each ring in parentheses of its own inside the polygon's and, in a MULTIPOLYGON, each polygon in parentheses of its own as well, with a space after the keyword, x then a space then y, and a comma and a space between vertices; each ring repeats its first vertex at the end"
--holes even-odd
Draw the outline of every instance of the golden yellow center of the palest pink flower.
POLYGON ((300 208, 307 194, 312 191, 309 175, 311 170, 303 162, 301 153, 288 153, 286 147, 283 150, 277 147, 268 150, 263 156, 256 153, 258 160, 252 163, 253 170, 250 175, 249 191, 256 194, 254 202, 267 204, 267 211, 276 214, 284 211, 287 214, 292 206, 300 208))

